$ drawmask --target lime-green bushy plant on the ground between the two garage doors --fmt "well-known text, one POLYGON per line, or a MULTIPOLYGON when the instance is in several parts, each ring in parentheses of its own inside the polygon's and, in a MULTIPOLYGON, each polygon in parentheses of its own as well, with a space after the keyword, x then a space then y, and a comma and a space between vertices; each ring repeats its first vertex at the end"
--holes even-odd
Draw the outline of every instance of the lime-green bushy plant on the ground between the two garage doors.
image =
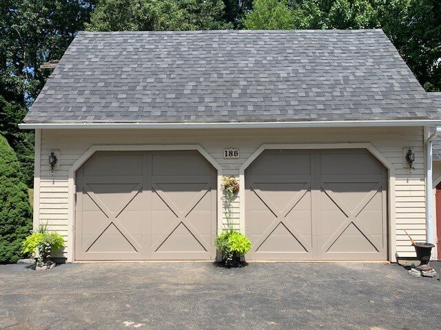
POLYGON ((234 262, 238 257, 251 250, 252 244, 248 237, 237 230, 227 229, 216 237, 216 249, 222 254, 224 263, 234 262))

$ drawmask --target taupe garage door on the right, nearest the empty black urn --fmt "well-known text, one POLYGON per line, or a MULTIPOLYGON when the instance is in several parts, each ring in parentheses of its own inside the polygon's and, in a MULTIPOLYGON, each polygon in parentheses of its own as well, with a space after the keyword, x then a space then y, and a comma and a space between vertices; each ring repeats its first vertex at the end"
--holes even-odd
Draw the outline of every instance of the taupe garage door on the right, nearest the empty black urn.
POLYGON ((267 150, 245 171, 251 259, 387 260, 387 170, 365 150, 267 150))

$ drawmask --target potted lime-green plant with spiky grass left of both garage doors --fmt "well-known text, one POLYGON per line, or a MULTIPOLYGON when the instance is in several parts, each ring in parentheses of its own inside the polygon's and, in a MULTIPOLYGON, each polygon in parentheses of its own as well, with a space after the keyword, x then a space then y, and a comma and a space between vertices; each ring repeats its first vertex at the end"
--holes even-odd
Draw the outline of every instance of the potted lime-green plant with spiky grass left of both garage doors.
POLYGON ((52 252, 59 252, 64 248, 63 236, 57 232, 49 232, 48 225, 39 225, 38 230, 33 230, 23 241, 22 252, 36 256, 36 270, 50 270, 55 263, 50 261, 52 252))

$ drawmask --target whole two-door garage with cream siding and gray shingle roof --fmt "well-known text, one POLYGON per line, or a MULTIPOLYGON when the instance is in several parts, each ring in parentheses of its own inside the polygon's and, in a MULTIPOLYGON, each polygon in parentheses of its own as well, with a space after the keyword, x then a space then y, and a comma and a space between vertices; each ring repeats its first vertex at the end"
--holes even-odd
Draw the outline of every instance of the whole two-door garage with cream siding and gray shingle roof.
POLYGON ((34 226, 69 262, 213 260, 227 222, 247 260, 411 258, 440 118, 381 30, 80 32, 21 124, 34 226))

